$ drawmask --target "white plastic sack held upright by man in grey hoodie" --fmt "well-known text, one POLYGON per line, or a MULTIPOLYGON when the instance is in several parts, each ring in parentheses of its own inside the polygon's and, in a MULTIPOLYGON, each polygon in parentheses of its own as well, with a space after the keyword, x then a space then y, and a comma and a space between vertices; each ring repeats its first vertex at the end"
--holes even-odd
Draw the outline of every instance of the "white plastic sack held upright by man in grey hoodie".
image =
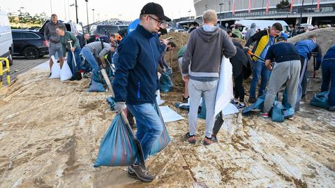
POLYGON ((220 79, 218 80, 218 90, 216 92, 215 115, 218 115, 234 98, 232 92, 232 64, 229 59, 222 57, 220 67, 220 79))

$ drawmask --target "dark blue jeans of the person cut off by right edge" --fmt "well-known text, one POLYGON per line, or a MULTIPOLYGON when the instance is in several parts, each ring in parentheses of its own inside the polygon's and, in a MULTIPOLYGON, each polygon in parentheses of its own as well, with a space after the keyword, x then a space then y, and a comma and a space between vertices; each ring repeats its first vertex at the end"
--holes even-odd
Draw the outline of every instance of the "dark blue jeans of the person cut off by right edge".
POLYGON ((335 106, 335 61, 327 60, 322 62, 322 85, 321 92, 329 90, 329 106, 335 106), (330 89, 329 89, 330 84, 330 89))

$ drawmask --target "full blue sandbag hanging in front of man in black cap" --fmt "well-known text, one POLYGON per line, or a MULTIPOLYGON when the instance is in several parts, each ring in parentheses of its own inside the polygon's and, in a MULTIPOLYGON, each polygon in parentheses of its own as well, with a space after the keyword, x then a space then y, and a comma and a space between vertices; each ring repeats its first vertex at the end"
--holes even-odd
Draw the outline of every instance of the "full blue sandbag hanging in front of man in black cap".
POLYGON ((94 167, 134 164, 138 150, 131 131, 121 115, 117 115, 101 140, 94 167))

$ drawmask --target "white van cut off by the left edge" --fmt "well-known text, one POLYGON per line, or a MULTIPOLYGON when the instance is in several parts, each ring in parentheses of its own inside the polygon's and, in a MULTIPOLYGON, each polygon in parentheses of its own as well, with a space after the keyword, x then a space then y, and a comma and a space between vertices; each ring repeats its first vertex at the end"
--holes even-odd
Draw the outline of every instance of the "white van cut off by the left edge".
POLYGON ((0 57, 9 59, 9 64, 13 64, 13 38, 10 33, 10 23, 6 12, 0 11, 0 57))

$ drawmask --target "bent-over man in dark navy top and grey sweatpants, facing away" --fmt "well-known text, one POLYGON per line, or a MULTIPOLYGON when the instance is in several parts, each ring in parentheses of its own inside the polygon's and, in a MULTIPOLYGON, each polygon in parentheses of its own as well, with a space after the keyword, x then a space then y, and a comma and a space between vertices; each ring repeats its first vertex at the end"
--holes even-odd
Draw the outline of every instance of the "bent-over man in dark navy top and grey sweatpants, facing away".
MULTIPOLYGON (((287 43, 283 36, 278 36, 277 43, 270 46, 265 59, 265 66, 272 70, 272 73, 260 116, 267 118, 274 104, 274 98, 284 84, 286 84, 288 91, 288 103, 292 108, 295 108, 301 64, 300 55, 295 45, 287 43), (272 62, 274 62, 274 66, 271 65, 272 62)), ((293 120, 294 117, 289 119, 293 120)))

